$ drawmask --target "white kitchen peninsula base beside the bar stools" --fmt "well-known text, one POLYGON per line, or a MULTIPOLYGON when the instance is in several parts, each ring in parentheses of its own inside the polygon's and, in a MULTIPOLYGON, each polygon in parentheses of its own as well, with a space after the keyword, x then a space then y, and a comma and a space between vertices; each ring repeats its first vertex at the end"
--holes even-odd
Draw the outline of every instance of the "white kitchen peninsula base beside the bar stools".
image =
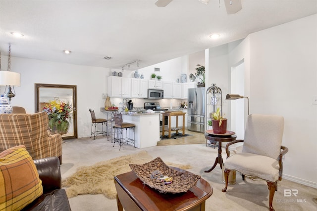
MULTIPOLYGON (((112 114, 112 111, 107 111, 105 108, 100 108, 100 110, 106 113, 107 117, 112 114)), ((157 145, 159 113, 121 112, 121 114, 124 122, 135 125, 135 147, 142 149, 157 145)), ((128 130, 128 136, 133 137, 133 131, 128 130)))

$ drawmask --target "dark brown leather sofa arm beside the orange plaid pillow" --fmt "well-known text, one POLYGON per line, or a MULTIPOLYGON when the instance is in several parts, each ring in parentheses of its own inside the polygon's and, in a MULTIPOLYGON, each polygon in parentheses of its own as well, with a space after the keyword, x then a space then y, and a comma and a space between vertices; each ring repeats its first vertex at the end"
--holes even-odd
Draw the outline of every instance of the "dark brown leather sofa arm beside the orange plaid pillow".
POLYGON ((34 163, 42 180, 44 193, 61 188, 60 164, 57 157, 34 160, 34 163))

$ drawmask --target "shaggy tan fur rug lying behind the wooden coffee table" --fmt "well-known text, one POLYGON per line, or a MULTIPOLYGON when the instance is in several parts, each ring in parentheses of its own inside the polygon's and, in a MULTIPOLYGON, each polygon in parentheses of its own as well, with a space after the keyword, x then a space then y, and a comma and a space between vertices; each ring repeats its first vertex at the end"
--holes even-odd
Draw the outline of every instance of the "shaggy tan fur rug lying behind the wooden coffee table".
MULTIPOLYGON (((131 171, 129 164, 144 164, 153 160, 146 151, 121 156, 96 163, 89 167, 79 167, 77 171, 62 181, 68 198, 82 194, 104 194, 108 199, 115 199, 116 190, 113 182, 115 175, 131 171)), ((190 169, 189 165, 165 162, 168 166, 190 169)))

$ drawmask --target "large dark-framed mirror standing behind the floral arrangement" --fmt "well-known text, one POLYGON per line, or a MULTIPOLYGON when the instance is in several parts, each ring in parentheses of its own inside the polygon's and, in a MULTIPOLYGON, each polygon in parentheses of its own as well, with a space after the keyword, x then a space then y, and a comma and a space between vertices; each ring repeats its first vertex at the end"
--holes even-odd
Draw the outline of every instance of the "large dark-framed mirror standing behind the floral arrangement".
POLYGON ((77 138, 76 93, 76 85, 35 84, 35 112, 44 111, 52 101, 69 105, 69 127, 67 132, 62 134, 63 139, 77 138))

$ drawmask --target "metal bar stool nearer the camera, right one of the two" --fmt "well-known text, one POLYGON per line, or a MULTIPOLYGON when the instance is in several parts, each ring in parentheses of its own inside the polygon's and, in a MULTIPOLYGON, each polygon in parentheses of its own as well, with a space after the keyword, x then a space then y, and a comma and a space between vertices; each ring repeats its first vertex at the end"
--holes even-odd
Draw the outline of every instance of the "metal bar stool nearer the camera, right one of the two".
POLYGON ((122 114, 113 114, 114 116, 114 126, 113 126, 113 130, 114 130, 114 136, 113 136, 113 147, 115 142, 118 142, 120 145, 119 150, 121 149, 121 146, 124 143, 133 143, 133 146, 135 147, 135 125, 132 123, 123 123, 122 122, 122 114), (133 139, 128 137, 128 129, 133 129, 133 139), (123 137, 123 131, 125 130, 125 137, 123 137), (117 133, 117 137, 115 137, 115 133, 117 133), (120 137, 119 137, 120 135, 120 137))

